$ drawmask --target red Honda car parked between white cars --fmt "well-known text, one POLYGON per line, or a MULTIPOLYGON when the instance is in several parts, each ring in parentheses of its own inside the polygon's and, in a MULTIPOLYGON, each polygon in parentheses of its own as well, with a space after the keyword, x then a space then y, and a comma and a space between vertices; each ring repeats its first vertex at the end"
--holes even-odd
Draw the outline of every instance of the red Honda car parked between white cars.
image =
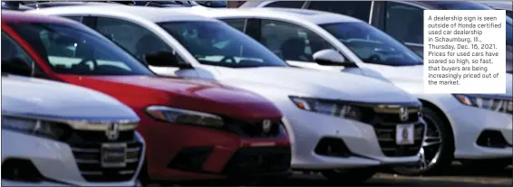
MULTIPOLYGON (((290 173, 290 142, 274 104, 215 82, 158 77, 81 23, 2 11, 2 67, 96 89, 130 106, 141 119, 151 180, 290 173)), ((118 140, 130 137, 121 131, 118 140)), ((86 180, 109 180, 90 176, 107 170, 97 164, 78 166, 86 180)))

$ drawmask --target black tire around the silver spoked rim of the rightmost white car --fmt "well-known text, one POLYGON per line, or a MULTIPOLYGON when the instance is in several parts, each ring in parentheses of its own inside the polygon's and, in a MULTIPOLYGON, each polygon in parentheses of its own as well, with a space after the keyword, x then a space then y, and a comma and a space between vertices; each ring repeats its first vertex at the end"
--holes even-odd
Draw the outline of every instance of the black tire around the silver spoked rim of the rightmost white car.
MULTIPOLYGON (((433 108, 425 106, 423 108, 423 115, 426 123, 429 123, 428 126, 430 127, 430 124, 431 126, 438 126, 438 131, 440 133, 441 143, 440 148, 438 148, 439 154, 437 156, 436 163, 432 163, 431 160, 430 164, 428 164, 424 169, 420 169, 417 166, 396 167, 393 168, 395 173, 403 175, 431 175, 450 171, 450 166, 454 159, 454 136, 452 135, 452 127, 446 122, 447 120, 440 117, 443 114, 437 113, 433 108)), ((428 148, 431 147, 426 147, 425 149, 428 148)))

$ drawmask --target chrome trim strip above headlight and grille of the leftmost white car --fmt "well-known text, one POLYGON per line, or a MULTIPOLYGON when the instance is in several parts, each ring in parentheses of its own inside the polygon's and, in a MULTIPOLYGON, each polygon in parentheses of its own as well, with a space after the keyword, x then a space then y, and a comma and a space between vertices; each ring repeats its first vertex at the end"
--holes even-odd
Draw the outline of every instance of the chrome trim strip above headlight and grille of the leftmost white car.
POLYGON ((17 113, 2 111, 2 117, 19 117, 25 119, 32 119, 37 121, 47 121, 54 123, 63 123, 71 126, 75 130, 87 130, 87 131, 105 131, 108 129, 111 123, 120 124, 120 131, 134 130, 137 128, 140 119, 128 118, 128 117, 58 117, 58 116, 47 116, 30 113, 17 113))

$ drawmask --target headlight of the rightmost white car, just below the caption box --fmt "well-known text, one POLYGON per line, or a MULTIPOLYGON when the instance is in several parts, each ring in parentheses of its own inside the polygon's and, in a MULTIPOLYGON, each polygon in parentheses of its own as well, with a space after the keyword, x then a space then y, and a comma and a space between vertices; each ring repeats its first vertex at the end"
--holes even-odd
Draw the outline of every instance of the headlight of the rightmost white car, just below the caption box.
POLYGON ((453 94, 461 104, 476 108, 485 108, 497 112, 513 112, 512 98, 498 98, 487 95, 453 94))

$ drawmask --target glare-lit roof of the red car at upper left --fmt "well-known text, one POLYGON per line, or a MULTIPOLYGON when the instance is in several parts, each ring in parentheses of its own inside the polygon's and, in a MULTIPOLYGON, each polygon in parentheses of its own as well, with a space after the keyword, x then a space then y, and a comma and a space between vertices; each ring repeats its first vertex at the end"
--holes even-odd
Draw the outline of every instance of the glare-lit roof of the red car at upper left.
MULTIPOLYGON (((2 22, 14 23, 14 22, 36 22, 36 23, 75 23, 72 20, 68 20, 61 17, 54 16, 41 16, 37 14, 25 14, 20 11, 13 10, 2 10, 2 22)), ((78 23, 76 23, 78 24, 78 23)))

